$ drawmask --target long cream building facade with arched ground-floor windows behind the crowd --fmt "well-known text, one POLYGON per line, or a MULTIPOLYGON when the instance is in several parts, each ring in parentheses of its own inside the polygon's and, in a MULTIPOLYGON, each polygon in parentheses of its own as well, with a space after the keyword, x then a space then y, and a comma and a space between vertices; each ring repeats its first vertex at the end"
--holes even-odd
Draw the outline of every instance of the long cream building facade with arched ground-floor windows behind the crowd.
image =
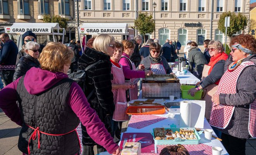
MULTIPOLYGON (((134 27, 139 12, 148 12, 153 18, 155 12, 156 36, 153 32, 147 34, 148 38, 157 38, 162 45, 166 39, 171 39, 179 40, 182 45, 192 40, 202 46, 204 39, 224 43, 225 36, 218 30, 220 15, 228 11, 241 12, 249 19, 249 5, 250 0, 81 0, 79 20, 127 23, 134 27)), ((242 31, 237 32, 240 33, 242 31)), ((114 37, 123 39, 120 35, 114 37)))

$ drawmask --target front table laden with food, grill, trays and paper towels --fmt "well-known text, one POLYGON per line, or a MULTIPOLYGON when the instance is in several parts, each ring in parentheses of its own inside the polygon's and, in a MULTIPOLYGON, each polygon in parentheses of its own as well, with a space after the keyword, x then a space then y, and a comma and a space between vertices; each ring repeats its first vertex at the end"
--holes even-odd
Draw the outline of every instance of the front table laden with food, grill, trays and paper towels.
POLYGON ((187 93, 192 87, 173 74, 143 78, 138 99, 128 102, 131 116, 121 134, 121 154, 228 155, 204 118, 202 91, 194 97, 187 93))

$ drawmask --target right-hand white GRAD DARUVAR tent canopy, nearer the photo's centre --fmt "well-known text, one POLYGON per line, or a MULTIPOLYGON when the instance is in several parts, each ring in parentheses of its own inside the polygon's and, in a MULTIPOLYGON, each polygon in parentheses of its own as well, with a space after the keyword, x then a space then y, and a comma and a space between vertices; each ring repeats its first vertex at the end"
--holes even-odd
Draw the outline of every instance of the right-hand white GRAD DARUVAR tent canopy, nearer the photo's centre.
POLYGON ((83 23, 79 27, 80 34, 128 34, 128 24, 126 23, 83 23))

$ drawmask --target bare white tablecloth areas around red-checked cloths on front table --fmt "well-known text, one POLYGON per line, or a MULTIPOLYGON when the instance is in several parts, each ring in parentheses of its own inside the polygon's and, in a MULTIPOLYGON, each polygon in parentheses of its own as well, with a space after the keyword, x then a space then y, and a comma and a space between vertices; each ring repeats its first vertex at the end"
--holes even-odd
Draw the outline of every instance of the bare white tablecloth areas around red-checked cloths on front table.
MULTIPOLYGON (((168 113, 166 112, 163 115, 156 115, 156 116, 161 116, 161 117, 166 117, 167 118, 167 119, 164 119, 163 121, 159 121, 157 123, 151 124, 149 126, 141 128, 141 129, 127 127, 126 133, 150 133, 150 132, 152 133, 153 128, 162 127, 163 125, 167 126, 167 125, 178 124, 179 123, 179 117, 180 117, 179 113, 176 113, 176 115, 173 119, 168 118, 168 116, 166 116, 166 114, 168 114, 168 113)), ((210 124, 208 123, 208 121, 206 119, 204 119, 204 129, 212 129, 210 124)), ((123 133, 122 133, 122 135, 123 135, 123 133)), ((122 137, 122 135, 121 135, 121 137, 122 137)), ((216 136, 214 131, 213 131, 213 135, 216 136)), ((204 144, 209 145, 209 146, 219 146, 223 149, 222 152, 221 152, 221 155, 228 155, 226 149, 224 148, 224 146, 222 145, 222 143, 219 140, 217 140, 215 138, 212 138, 211 141, 206 141, 206 140, 204 140, 204 133, 202 133, 200 135, 200 137, 201 137, 200 143, 204 143, 204 144)))

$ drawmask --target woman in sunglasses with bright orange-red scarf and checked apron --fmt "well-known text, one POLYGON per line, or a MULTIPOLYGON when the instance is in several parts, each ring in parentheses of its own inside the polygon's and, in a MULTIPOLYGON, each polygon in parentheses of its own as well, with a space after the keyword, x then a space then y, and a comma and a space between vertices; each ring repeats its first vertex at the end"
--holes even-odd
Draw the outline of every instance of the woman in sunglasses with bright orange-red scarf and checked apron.
POLYGON ((211 115, 211 98, 217 90, 220 78, 224 73, 225 61, 228 58, 228 55, 224 52, 223 44, 220 41, 210 41, 208 43, 208 52, 211 59, 208 65, 204 65, 202 81, 198 82, 195 88, 189 90, 189 94, 192 96, 201 89, 205 90, 205 95, 202 99, 206 101, 205 118, 207 120, 210 119, 211 115))

